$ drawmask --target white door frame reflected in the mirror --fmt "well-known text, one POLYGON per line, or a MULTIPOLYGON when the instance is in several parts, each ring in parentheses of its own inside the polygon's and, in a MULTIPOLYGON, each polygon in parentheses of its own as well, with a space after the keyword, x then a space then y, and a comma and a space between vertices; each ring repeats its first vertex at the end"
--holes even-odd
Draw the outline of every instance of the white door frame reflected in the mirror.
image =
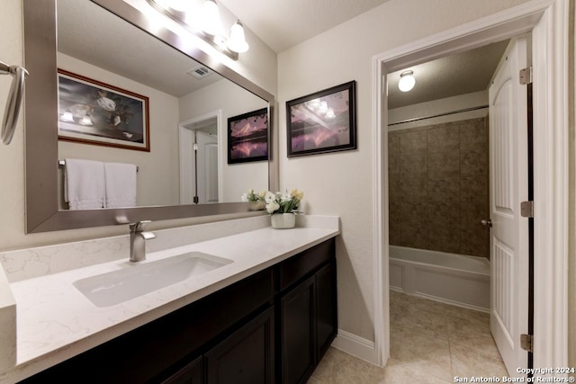
POLYGON ((217 125, 217 129, 218 129, 218 138, 219 138, 219 144, 218 144, 218 200, 222 201, 222 191, 220 186, 222 185, 222 146, 221 146, 221 141, 220 138, 222 138, 222 133, 224 132, 224 128, 222 127, 222 111, 221 110, 217 110, 217 111, 213 111, 213 112, 208 112, 206 114, 203 114, 202 116, 198 116, 195 117, 193 119, 190 120, 186 120, 186 121, 180 121, 178 123, 178 161, 179 161, 179 165, 180 165, 180 171, 179 171, 179 176, 178 176, 178 181, 180 183, 180 187, 179 187, 179 191, 180 191, 180 204, 190 204, 189 201, 184 201, 184 195, 188 192, 186 185, 191 185, 191 179, 190 179, 190 175, 191 173, 189 172, 192 169, 191 166, 191 161, 192 161, 192 156, 189 150, 189 147, 187 147, 188 143, 190 143, 192 141, 193 138, 193 130, 189 128, 191 125, 201 122, 201 121, 206 121, 206 120, 211 120, 216 118, 216 125, 217 125))

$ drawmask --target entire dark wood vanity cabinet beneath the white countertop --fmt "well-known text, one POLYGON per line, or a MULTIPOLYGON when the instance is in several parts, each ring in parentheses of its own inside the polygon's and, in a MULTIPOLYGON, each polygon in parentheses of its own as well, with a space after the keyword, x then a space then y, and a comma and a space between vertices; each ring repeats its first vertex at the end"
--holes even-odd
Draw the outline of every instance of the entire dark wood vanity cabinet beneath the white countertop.
POLYGON ((337 333, 334 239, 22 383, 305 382, 337 333))

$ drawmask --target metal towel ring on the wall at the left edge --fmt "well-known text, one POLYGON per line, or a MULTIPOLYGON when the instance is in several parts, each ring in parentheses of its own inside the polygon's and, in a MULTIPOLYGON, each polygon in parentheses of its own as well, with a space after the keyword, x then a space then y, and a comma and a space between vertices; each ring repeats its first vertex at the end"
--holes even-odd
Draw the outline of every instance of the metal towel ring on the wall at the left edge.
POLYGON ((16 129, 16 122, 18 121, 24 94, 24 80, 28 76, 28 71, 24 67, 9 66, 0 61, 0 75, 14 76, 10 93, 6 100, 4 120, 2 121, 2 142, 8 145, 12 141, 14 130, 16 129))

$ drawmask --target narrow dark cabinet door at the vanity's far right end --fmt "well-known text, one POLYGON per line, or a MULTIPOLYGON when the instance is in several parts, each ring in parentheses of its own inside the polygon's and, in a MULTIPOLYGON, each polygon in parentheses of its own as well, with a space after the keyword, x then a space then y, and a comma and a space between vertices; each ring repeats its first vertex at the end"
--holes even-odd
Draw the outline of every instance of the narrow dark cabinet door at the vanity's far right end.
POLYGON ((338 333, 336 260, 316 273, 316 343, 318 362, 338 333))

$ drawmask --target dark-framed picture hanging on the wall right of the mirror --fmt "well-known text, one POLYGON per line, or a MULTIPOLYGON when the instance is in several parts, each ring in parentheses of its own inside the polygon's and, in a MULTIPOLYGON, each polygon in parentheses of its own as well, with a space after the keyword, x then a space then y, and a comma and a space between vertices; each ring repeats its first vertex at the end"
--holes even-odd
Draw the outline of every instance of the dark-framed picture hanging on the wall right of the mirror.
POLYGON ((356 81, 286 102, 288 157, 356 149, 356 81))

